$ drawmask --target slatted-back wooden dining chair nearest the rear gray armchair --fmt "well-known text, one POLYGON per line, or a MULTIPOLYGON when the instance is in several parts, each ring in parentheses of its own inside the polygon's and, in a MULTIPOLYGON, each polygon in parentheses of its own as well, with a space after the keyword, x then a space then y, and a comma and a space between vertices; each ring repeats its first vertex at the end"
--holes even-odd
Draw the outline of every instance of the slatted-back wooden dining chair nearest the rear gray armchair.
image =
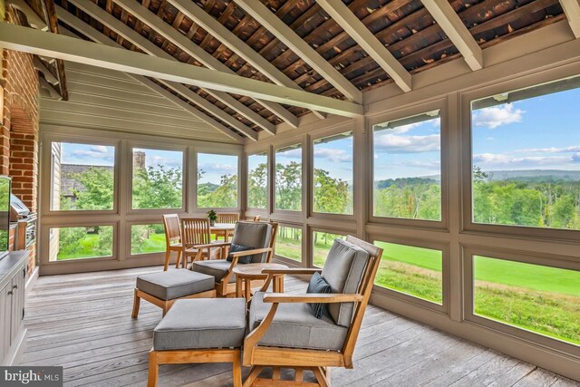
POLYGON ((215 257, 218 251, 224 248, 212 246, 208 218, 181 218, 181 236, 183 238, 182 267, 188 265, 189 257, 192 257, 192 262, 210 259, 212 254, 215 257))

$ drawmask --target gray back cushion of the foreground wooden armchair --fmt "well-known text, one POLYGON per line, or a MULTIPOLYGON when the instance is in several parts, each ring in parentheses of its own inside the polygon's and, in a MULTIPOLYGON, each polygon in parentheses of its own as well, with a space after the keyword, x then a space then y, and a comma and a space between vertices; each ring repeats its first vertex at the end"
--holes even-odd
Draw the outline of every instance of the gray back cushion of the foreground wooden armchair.
MULTIPOLYGON (((323 268, 323 277, 333 290, 332 293, 357 293, 369 257, 369 253, 361 247, 343 239, 334 240, 323 268)), ((328 305, 328 312, 334 322, 346 327, 353 321, 353 310, 353 303, 328 305)))

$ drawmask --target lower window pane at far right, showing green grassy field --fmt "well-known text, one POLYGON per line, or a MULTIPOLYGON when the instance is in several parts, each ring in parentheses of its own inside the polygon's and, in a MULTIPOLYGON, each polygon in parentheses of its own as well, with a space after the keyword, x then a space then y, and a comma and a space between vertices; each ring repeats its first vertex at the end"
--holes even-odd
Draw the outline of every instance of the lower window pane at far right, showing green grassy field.
POLYGON ((580 272, 473 256, 474 314, 580 344, 580 272))

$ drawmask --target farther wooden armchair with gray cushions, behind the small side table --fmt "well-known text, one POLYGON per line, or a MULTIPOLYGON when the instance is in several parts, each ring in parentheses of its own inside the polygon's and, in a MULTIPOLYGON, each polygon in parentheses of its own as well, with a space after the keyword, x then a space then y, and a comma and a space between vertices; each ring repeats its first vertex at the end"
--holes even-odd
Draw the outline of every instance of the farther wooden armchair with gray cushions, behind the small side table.
MULTIPOLYGON (((267 222, 237 222, 234 237, 231 242, 214 243, 213 247, 229 247, 232 244, 254 247, 251 250, 239 251, 231 254, 232 261, 217 259, 211 261, 194 261, 191 270, 216 278, 216 290, 218 296, 231 295, 236 292, 236 277, 234 267, 241 257, 251 256, 251 263, 269 263, 274 256, 275 237, 277 234, 277 223, 267 222)), ((222 257, 225 257, 223 255, 222 257)), ((256 281, 261 285, 264 281, 256 281)))

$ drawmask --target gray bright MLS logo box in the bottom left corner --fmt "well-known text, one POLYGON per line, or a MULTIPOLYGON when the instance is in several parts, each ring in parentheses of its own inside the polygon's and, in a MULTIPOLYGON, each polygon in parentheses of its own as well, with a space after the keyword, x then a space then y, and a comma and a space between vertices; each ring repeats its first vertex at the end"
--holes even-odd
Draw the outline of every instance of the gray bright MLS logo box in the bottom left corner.
POLYGON ((63 367, 0 367, 3 387, 62 387, 63 367))

